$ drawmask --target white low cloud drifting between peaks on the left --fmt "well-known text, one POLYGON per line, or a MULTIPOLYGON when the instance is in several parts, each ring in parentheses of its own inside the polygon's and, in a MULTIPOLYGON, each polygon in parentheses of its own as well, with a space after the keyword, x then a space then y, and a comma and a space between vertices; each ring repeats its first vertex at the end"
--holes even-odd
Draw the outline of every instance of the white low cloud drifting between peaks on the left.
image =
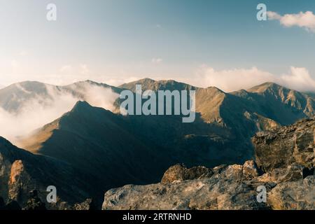
POLYGON ((81 85, 77 92, 60 90, 50 85, 46 86, 46 90, 48 95, 38 94, 21 102, 22 105, 16 112, 10 113, 0 107, 1 137, 14 143, 18 137, 24 137, 71 111, 79 100, 85 100, 92 106, 112 110, 113 102, 118 97, 118 94, 109 88, 87 83, 81 85))

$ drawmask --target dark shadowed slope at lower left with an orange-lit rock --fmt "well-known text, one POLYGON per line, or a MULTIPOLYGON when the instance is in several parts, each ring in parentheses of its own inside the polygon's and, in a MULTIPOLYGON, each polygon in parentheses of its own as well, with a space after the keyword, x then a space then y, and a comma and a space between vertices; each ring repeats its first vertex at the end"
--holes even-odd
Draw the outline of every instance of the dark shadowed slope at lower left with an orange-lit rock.
POLYGON ((33 155, 17 148, 0 137, 0 197, 5 201, 15 200, 25 206, 31 190, 46 207, 62 209, 83 202, 87 197, 97 197, 102 189, 94 186, 97 179, 73 168, 66 162, 33 155), (57 204, 48 204, 46 189, 57 188, 57 204), (66 203, 65 203, 66 202, 66 203))

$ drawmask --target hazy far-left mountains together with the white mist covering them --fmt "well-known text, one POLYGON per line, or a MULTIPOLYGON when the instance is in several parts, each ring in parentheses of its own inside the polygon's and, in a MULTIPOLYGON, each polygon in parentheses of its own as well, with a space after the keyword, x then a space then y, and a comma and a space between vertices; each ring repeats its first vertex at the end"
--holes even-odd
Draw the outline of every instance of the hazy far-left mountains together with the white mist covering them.
POLYGON ((0 90, 0 135, 15 141, 70 111, 78 100, 113 109, 116 87, 90 80, 66 86, 34 81, 16 83, 0 90))

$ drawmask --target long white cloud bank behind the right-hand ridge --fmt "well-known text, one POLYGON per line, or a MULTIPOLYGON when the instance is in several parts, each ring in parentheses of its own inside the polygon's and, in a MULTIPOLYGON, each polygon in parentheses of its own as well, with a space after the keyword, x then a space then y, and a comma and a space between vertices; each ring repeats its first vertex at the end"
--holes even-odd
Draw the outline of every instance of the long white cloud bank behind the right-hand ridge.
POLYGON ((266 82, 274 82, 293 90, 314 91, 315 80, 305 68, 290 67, 288 73, 276 75, 262 71, 255 66, 250 69, 216 70, 209 66, 198 69, 193 78, 183 81, 200 87, 215 86, 225 92, 248 89, 266 82))

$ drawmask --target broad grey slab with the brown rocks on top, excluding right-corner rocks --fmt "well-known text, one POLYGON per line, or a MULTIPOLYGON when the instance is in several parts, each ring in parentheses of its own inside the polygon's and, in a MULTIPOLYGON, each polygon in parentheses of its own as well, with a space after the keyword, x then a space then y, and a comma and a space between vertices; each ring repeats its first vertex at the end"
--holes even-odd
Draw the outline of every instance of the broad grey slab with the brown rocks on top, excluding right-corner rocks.
POLYGON ((262 183, 250 180, 258 173, 253 161, 213 169, 175 165, 162 183, 109 190, 103 209, 269 209, 255 200, 262 183))

